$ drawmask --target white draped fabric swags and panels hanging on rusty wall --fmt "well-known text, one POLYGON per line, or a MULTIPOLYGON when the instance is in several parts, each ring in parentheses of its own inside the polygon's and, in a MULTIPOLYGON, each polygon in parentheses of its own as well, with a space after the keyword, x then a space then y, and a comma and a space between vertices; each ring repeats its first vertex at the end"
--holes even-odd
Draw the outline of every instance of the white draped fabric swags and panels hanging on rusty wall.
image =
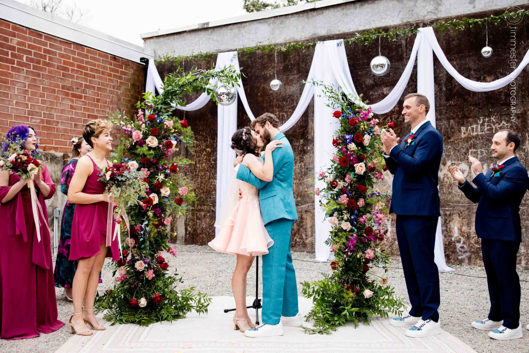
MULTIPOLYGON (((426 118, 432 122, 435 127, 435 96, 434 96, 434 72, 433 72, 433 53, 437 56, 440 63, 463 87, 470 91, 486 92, 500 89, 512 82, 529 63, 529 51, 525 54, 521 63, 513 72, 503 78, 492 82, 476 82, 469 80, 459 74, 446 59, 439 42, 435 37, 432 27, 420 28, 418 30, 412 53, 404 69, 402 76, 391 92, 375 104, 369 104, 373 112, 384 114, 395 107, 402 99, 402 94, 408 84, 409 77, 414 68, 415 59, 417 59, 417 92, 427 96, 431 107, 426 118)), ((239 59, 236 51, 218 53, 216 68, 233 65, 239 72, 239 59)), ((280 127, 281 131, 286 131, 293 127, 308 107, 308 104, 314 99, 314 171, 318 173, 325 170, 330 163, 334 147, 332 146, 333 132, 338 128, 337 119, 332 118, 334 109, 326 107, 327 101, 322 95, 321 87, 312 84, 312 80, 323 81, 339 88, 350 99, 358 101, 358 92, 352 81, 349 64, 345 55, 345 48, 342 39, 328 40, 318 42, 314 50, 314 57, 309 70, 302 96, 299 99, 296 109, 292 116, 280 127)), ((216 80, 210 81, 211 85, 216 85, 216 80)), ((244 87, 239 81, 237 87, 238 98, 241 100, 243 107, 250 120, 254 115, 248 105, 244 87)), ((154 60, 149 60, 147 75, 147 84, 145 92, 159 93, 162 91, 163 82, 158 70, 154 65, 154 60)), ((203 93, 194 102, 185 107, 177 107, 181 110, 197 110, 209 101, 209 95, 203 93)), ((224 192, 227 189, 229 181, 233 175, 233 162, 235 152, 230 148, 231 136, 237 129, 237 103, 223 106, 217 106, 218 112, 218 131, 217 131, 217 187, 216 187, 216 209, 220 209, 221 200, 224 199, 224 192)), ((324 188, 325 184, 321 181, 315 182, 315 187, 324 188)), ((327 261, 331 255, 330 247, 325 245, 325 240, 329 237, 331 226, 324 222, 324 213, 320 208, 320 202, 317 196, 314 197, 314 215, 315 215, 315 255, 317 261, 327 261)), ((220 212, 217 211, 218 218, 220 212)), ((218 221, 218 219, 216 219, 218 221)), ((441 219, 437 223, 437 233, 435 237, 435 263, 440 271, 452 271, 446 265, 444 259, 443 236, 441 232, 441 219)))

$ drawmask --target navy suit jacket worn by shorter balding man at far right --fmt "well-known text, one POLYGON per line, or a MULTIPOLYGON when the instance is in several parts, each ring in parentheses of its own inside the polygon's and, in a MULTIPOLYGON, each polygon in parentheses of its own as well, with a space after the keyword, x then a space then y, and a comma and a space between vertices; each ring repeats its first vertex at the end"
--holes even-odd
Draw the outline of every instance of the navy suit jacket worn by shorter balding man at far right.
POLYGON ((468 180, 458 186, 470 201, 479 202, 475 223, 478 237, 522 242, 519 207, 527 190, 527 171, 518 157, 503 165, 494 177, 492 169, 476 175, 472 180, 476 187, 468 180))

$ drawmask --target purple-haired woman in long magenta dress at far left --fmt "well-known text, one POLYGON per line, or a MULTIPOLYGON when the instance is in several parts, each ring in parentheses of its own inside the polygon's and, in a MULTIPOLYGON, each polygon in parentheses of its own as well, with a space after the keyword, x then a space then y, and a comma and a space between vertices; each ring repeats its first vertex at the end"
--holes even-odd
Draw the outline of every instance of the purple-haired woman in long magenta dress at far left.
MULTIPOLYGON (((22 148, 39 154, 37 135, 28 125, 12 127, 8 140, 22 140, 22 148)), ((8 145, 4 144, 3 151, 8 145)), ((41 241, 33 220, 28 183, 20 175, 0 171, 0 338, 33 338, 60 329, 53 283, 48 212, 45 199, 55 193, 48 167, 34 177, 44 217, 39 213, 41 241)))

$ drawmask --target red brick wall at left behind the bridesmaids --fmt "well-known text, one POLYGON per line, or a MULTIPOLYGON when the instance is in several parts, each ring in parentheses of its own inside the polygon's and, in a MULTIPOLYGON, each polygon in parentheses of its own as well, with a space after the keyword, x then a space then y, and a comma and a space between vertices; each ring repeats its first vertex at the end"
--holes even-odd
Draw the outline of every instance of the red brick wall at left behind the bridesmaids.
POLYGON ((143 92, 143 65, 0 20, 0 131, 27 123, 41 151, 70 153, 87 121, 143 92))

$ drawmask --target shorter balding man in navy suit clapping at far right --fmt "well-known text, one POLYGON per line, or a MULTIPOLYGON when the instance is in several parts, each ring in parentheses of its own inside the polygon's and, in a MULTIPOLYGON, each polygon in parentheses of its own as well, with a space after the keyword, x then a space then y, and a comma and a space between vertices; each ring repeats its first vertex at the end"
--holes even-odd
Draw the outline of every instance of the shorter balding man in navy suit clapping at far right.
POLYGON ((498 164, 483 174, 481 163, 469 156, 476 177, 463 177, 457 166, 449 167, 458 187, 475 204, 476 234, 487 272, 490 311, 484 320, 472 322, 479 330, 492 330, 498 340, 522 338, 520 319, 520 280, 516 254, 522 242, 519 207, 527 190, 527 171, 514 155, 521 139, 512 130, 499 130, 492 138, 492 157, 498 164))

